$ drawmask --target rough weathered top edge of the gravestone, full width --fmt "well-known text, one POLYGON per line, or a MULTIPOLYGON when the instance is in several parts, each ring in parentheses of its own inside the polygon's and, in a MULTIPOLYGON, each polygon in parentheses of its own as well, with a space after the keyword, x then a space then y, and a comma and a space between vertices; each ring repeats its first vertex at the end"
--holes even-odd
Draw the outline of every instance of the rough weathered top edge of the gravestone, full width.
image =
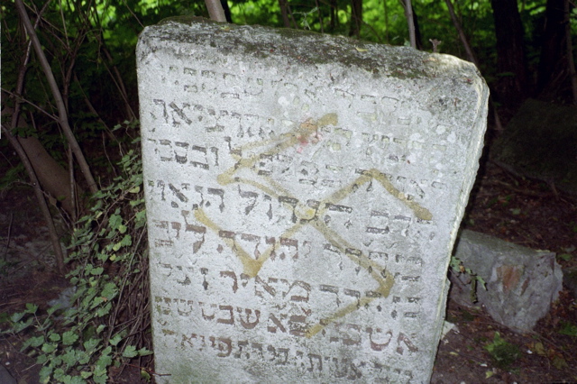
POLYGON ((175 16, 162 20, 154 27, 154 32, 147 28, 142 33, 179 43, 198 44, 199 41, 206 41, 203 45, 226 54, 243 54, 260 59, 289 59, 288 64, 301 67, 338 62, 343 67, 365 69, 374 78, 453 77, 467 84, 473 84, 475 79, 481 78, 472 63, 450 55, 303 30, 217 23, 197 16, 175 16), (239 44, 240 40, 243 44, 239 44))

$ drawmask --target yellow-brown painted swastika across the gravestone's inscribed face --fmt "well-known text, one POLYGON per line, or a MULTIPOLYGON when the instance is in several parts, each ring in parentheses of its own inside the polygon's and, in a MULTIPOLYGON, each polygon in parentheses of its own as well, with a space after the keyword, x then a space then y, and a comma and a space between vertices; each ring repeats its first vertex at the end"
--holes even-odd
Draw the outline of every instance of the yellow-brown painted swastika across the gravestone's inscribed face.
MULTIPOLYGON (((324 127, 326 125, 336 125, 338 123, 338 115, 337 114, 325 114, 323 117, 318 119, 318 121, 314 121, 312 119, 307 119, 307 121, 300 123, 298 128, 289 133, 283 133, 279 135, 279 137, 275 139, 269 139, 261 142, 252 142, 246 144, 240 148, 235 149, 234 153, 241 153, 241 155, 233 154, 234 159, 237 160, 236 164, 230 169, 226 169, 222 174, 218 175, 217 181, 221 185, 228 185, 232 183, 239 183, 239 184, 247 184, 251 185, 252 187, 256 187, 260 189, 262 192, 266 193, 270 197, 279 198, 280 196, 290 196, 289 191, 279 185, 278 182, 274 181, 268 177, 262 177, 264 179, 263 182, 258 182, 252 179, 247 178, 240 178, 234 177, 234 174, 239 171, 240 169, 251 169, 254 165, 261 159, 262 154, 266 155, 276 155, 279 154, 281 151, 289 149, 291 147, 297 146, 299 143, 308 142, 309 137, 312 134, 316 134, 319 127, 324 127), (259 147, 268 147, 268 150, 262 151, 261 153, 253 154, 252 156, 243 158, 242 153, 243 151, 250 151, 254 150, 259 147), (266 183, 266 185, 265 185, 266 183)), ((350 132, 349 132, 350 134, 350 132)), ((318 136, 314 136, 318 138, 318 136)), ((321 233, 327 242, 334 246, 337 250, 341 251, 343 254, 347 255, 351 261, 355 264, 359 265, 363 270, 367 270, 371 275, 371 278, 374 279, 377 284, 378 288, 373 289, 376 292, 379 292, 381 297, 389 297, 390 289, 393 287, 395 281, 392 274, 386 269, 386 267, 381 266, 377 261, 371 261, 368 256, 364 253, 353 254, 352 252, 347 252, 347 249, 354 249, 354 247, 346 242, 338 233, 334 232, 331 228, 329 228, 322 220, 312 220, 315 215, 321 217, 324 215, 325 211, 328 209, 328 203, 337 203, 343 198, 348 197, 353 192, 355 192, 359 187, 362 187, 364 184, 371 182, 372 180, 377 180, 382 187, 384 187, 387 192, 392 197, 397 198, 401 201, 405 206, 408 206, 418 218, 422 220, 431 220, 433 215, 423 206, 419 206, 416 202, 412 200, 408 200, 406 195, 399 191, 396 187, 392 185, 389 179, 381 173, 378 169, 370 169, 368 171, 363 172, 361 176, 356 178, 352 183, 349 185, 335 191, 331 194, 328 198, 325 198, 319 205, 317 209, 313 209, 309 206, 305 206, 301 203, 298 203, 298 206, 293 207, 289 204, 285 204, 285 206, 290 210, 294 209, 295 215, 298 217, 298 223, 294 224, 292 227, 289 228, 285 233, 282 234, 282 237, 291 237, 294 233, 300 231, 300 229, 306 225, 312 225, 319 233, 321 233), (300 219, 307 220, 305 224, 300 224, 300 219)), ((215 223, 213 223, 204 213, 202 209, 197 209, 195 211, 195 217, 197 220, 205 224, 206 227, 210 228, 215 233, 219 233, 222 231, 221 228, 218 227, 215 223)), ((243 264, 243 271, 246 275, 251 278, 254 278, 258 275, 259 271, 261 270, 262 265, 270 258, 270 254, 272 251, 275 250, 275 245, 273 244, 269 249, 261 253, 261 257, 258 260, 253 259, 243 248, 234 242, 234 239, 231 238, 223 238, 224 242, 238 258, 239 261, 243 264)), ((307 337, 312 337, 315 334, 319 333, 326 325, 333 323, 334 321, 342 318, 345 315, 348 315, 354 312, 356 309, 360 308, 361 306, 365 306, 371 303, 377 297, 361 297, 357 303, 353 303, 349 306, 345 306, 338 311, 334 312, 334 314, 329 315, 322 321, 320 321, 316 325, 312 325, 307 330, 307 337)))

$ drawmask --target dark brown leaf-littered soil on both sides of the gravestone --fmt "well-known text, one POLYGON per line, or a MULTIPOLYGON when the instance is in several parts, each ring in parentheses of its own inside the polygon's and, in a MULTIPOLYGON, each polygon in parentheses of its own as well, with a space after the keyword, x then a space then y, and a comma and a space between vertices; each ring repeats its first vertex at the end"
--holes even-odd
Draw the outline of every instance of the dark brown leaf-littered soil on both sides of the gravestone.
MULTIPOLYGON (((0 164, 0 172, 7 167, 0 164)), ((560 264, 577 266, 575 198, 557 193, 554 186, 513 176, 490 161, 481 164, 463 227, 569 255, 568 260, 559 259, 560 264)), ((31 187, 16 183, 0 191, 0 329, 5 315, 22 310, 26 303, 46 309, 47 302, 68 286, 53 271, 47 236, 31 187)), ((577 336, 560 334, 567 325, 577 326, 577 303, 567 288, 528 334, 515 334, 482 309, 452 301, 446 318, 455 328, 439 344, 433 383, 577 381, 577 336), (488 351, 497 333, 517 346, 511 361, 496 361, 488 351)), ((18 383, 37 383, 41 367, 20 351, 22 342, 21 336, 0 334, 0 364, 18 383)), ((135 366, 114 370, 110 382, 140 382, 139 371, 135 366)))

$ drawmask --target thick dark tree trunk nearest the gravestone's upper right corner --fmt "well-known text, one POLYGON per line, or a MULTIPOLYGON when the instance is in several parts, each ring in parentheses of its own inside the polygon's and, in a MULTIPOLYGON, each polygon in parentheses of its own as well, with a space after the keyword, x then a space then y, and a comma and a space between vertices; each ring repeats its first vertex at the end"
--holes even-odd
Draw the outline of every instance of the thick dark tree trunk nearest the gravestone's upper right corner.
POLYGON ((490 4, 497 37, 497 70, 501 75, 497 94, 501 101, 518 103, 527 96, 529 77, 517 0, 491 0, 490 4))

